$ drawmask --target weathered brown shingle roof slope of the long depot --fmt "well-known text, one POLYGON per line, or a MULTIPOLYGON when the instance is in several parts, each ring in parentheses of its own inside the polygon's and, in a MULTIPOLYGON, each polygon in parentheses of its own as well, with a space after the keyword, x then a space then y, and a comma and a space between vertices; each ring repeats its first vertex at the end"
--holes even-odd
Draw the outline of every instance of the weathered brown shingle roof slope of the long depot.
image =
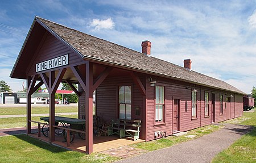
POLYGON ((36 19, 61 37, 61 39, 67 42, 72 48, 75 48, 84 58, 108 62, 108 64, 120 65, 146 73, 154 73, 158 76, 175 78, 176 80, 245 94, 236 87, 224 81, 217 80, 216 78, 205 76, 193 70, 187 70, 181 66, 160 60, 159 58, 148 57, 143 55, 143 53, 61 26, 60 24, 53 23, 46 19, 38 17, 36 17, 36 19))

